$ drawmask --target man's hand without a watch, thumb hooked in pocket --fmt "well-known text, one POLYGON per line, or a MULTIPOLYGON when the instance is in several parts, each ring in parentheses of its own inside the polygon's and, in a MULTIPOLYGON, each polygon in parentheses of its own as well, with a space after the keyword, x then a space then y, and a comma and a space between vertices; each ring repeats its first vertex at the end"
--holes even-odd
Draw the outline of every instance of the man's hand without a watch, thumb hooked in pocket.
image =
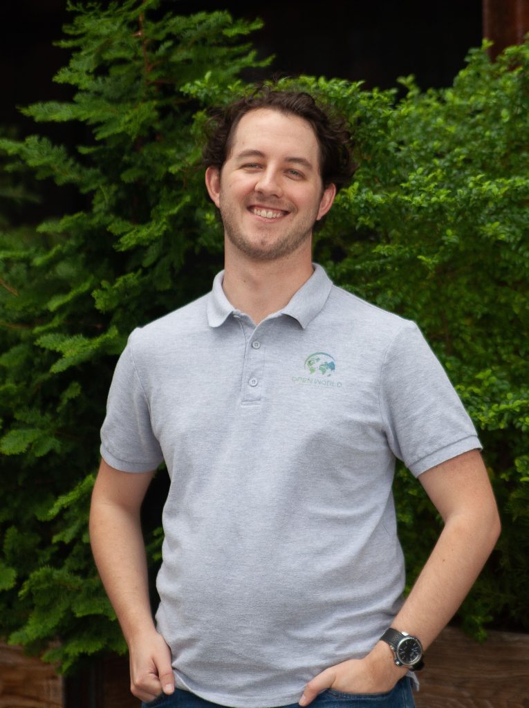
POLYGON ((174 692, 171 650, 156 631, 130 642, 130 690, 142 701, 174 692))

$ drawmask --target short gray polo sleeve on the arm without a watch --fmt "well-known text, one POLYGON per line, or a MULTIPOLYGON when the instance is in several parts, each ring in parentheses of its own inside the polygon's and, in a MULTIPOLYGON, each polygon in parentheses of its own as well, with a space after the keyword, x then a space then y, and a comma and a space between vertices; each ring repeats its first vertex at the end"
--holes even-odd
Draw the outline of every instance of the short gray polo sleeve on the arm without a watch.
POLYGON ((163 461, 149 402, 132 355, 132 332, 115 367, 101 428, 101 457, 123 472, 150 472, 163 461))

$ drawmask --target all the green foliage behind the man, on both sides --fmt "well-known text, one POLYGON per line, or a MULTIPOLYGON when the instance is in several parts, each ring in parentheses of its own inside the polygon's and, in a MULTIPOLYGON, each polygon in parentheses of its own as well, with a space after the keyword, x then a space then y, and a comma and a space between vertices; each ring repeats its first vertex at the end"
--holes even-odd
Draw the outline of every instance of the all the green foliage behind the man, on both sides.
MULTIPOLYGON (((98 429, 127 333, 206 292, 222 229, 200 167, 205 108, 244 91, 260 23, 176 16, 168 2, 76 6, 56 81, 72 101, 25 109, 76 121, 75 150, 0 139, 4 221, 17 172, 75 188, 83 210, 0 236, 0 627, 63 670, 124 651, 93 567, 86 516, 98 429), (4 188, 5 186, 5 188, 4 188)), ((351 120, 359 169, 317 235, 316 258, 361 297, 415 319, 486 448, 504 534, 460 612, 529 629, 529 46, 484 48, 443 91, 363 91, 301 77, 351 120)), ((145 518, 159 561, 164 473, 145 518)), ((404 469, 396 484, 410 582, 438 533, 404 469)))

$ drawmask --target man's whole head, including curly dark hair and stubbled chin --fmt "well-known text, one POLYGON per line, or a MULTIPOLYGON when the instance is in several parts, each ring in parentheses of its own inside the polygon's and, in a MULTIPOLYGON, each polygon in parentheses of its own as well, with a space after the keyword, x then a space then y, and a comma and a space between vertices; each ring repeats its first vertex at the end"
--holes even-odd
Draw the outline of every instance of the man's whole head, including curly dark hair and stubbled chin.
POLYGON ((205 164, 226 258, 252 261, 310 261, 314 224, 352 171, 343 122, 307 93, 268 89, 217 116, 205 164))

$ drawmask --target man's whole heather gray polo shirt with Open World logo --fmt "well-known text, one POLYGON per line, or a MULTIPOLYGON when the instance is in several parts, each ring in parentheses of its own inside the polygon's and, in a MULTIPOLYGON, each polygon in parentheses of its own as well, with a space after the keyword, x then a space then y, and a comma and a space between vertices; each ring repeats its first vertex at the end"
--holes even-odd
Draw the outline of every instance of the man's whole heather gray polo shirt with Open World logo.
POLYGON ((222 291, 130 336, 106 462, 165 460, 159 631, 176 683, 212 702, 297 702, 368 653, 402 603, 392 481, 480 447, 419 329, 316 266, 257 327, 222 291))

